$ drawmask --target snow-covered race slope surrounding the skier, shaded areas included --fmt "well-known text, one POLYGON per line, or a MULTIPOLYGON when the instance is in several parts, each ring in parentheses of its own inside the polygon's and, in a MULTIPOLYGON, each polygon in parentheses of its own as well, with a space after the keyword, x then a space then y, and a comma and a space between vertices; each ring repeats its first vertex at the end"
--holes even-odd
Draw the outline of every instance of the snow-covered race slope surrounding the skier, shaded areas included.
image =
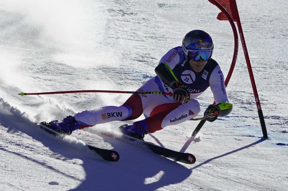
MULTIPOLYGON (((262 139, 240 45, 227 87, 230 116, 206 122, 195 139, 197 121, 145 136, 193 153, 197 161, 188 165, 96 134, 122 122, 77 130, 64 140, 35 124, 118 106, 129 94, 18 93, 135 91, 193 29, 211 34, 213 58, 227 75, 233 33, 228 21, 216 19, 216 6, 204 0, 0 1, 0 190, 287 190, 288 1, 237 4, 270 139, 262 139), (85 143, 115 149, 120 160, 104 161, 85 143)), ((203 111, 213 95, 207 90, 198 100, 203 111)))

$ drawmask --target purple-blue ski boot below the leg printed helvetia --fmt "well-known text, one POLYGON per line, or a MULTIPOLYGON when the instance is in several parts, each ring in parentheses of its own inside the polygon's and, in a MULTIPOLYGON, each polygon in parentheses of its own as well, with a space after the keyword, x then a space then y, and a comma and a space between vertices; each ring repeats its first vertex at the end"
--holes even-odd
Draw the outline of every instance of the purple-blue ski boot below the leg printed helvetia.
POLYGON ((144 139, 144 135, 148 134, 149 126, 145 119, 136 121, 132 125, 122 125, 120 130, 123 134, 134 137, 136 139, 144 139))

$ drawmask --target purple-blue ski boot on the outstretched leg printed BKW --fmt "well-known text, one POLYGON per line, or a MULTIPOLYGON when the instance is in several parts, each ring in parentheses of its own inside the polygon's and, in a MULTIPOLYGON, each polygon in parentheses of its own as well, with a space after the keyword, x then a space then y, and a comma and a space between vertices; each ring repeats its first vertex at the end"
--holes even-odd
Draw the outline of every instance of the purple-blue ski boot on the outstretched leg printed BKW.
POLYGON ((67 116, 62 121, 50 122, 51 127, 57 132, 71 135, 72 131, 79 129, 79 124, 72 116, 67 116))

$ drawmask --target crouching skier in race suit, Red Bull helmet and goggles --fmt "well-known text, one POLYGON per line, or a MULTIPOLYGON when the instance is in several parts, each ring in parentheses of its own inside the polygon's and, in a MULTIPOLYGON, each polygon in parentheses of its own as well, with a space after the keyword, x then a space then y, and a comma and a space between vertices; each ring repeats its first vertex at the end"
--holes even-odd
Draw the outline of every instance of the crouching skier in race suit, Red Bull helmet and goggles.
POLYGON ((209 105, 204 118, 213 122, 232 110, 229 103, 224 75, 218 63, 211 58, 213 42, 202 30, 192 30, 185 35, 182 46, 169 50, 155 68, 156 76, 137 91, 162 91, 173 96, 133 94, 121 106, 105 106, 67 116, 51 124, 57 131, 71 134, 74 130, 111 121, 134 120, 144 114, 145 119, 122 126, 121 131, 137 139, 147 133, 161 130, 194 118, 200 112, 195 99, 209 86, 216 105, 209 105))

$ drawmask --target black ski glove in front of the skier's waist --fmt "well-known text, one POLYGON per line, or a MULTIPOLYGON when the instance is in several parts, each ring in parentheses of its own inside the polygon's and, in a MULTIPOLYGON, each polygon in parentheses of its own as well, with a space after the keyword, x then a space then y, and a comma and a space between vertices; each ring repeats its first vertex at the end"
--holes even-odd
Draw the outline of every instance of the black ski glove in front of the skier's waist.
POLYGON ((186 104, 190 100, 190 93, 179 81, 173 81, 170 83, 170 87, 173 89, 173 100, 186 104))

